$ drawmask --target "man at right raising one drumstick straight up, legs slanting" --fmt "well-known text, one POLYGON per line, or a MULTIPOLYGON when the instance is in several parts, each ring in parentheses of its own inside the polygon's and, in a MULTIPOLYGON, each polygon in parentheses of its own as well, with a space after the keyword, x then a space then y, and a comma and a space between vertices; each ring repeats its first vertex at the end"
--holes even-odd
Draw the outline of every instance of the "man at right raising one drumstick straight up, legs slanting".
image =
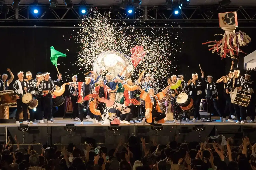
MULTIPOLYGON (((219 99, 218 96, 218 89, 217 89, 217 85, 212 82, 212 76, 208 75, 207 76, 207 80, 205 78, 205 74, 203 71, 201 71, 202 73, 202 83, 205 84, 205 93, 206 93, 206 98, 216 98, 217 100, 219 99)), ((217 100, 215 100, 214 103, 214 108, 216 109, 216 111, 218 112, 219 116, 220 116, 220 122, 226 122, 226 116, 222 114, 222 112, 220 112, 219 110, 219 105, 217 100)))

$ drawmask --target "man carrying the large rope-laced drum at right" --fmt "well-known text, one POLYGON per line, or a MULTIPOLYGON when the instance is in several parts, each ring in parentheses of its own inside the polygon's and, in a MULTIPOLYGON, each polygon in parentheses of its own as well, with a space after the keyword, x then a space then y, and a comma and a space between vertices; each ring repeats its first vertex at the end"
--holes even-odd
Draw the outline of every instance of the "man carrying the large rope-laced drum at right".
MULTIPOLYGON (((226 93, 227 94, 229 93, 229 88, 230 87, 232 88, 232 91, 234 91, 234 89, 236 87, 238 87, 238 90, 240 90, 242 88, 246 89, 246 87, 245 87, 245 80, 244 80, 244 77, 240 75, 239 68, 235 68, 234 69, 234 77, 229 80, 228 85, 226 86, 226 93)), ((247 123, 246 112, 245 112, 246 108, 241 106, 241 105, 235 104, 235 103, 233 103, 233 106, 234 106, 235 112, 237 114, 237 119, 238 119, 238 122, 236 122, 235 124, 247 123)))

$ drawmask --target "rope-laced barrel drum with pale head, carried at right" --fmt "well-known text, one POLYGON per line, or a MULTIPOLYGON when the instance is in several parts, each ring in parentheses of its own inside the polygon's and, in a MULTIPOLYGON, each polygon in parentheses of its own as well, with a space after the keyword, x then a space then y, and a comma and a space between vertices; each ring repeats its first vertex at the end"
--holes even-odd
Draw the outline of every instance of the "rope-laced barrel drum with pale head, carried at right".
POLYGON ((231 103, 238 104, 240 106, 247 107, 250 103, 252 92, 246 89, 238 89, 236 87, 233 93, 230 93, 231 103))

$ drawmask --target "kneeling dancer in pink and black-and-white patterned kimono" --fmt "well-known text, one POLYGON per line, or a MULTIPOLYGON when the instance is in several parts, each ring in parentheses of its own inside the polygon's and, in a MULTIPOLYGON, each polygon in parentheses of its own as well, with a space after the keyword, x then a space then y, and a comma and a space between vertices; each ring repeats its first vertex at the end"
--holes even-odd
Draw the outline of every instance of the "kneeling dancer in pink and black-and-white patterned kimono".
POLYGON ((116 101, 115 93, 109 93, 109 100, 106 98, 98 98, 99 102, 106 103, 104 114, 102 115, 102 125, 121 124, 123 121, 119 121, 116 116, 116 110, 120 110, 123 115, 130 114, 131 109, 126 107, 124 104, 120 104, 116 101))

